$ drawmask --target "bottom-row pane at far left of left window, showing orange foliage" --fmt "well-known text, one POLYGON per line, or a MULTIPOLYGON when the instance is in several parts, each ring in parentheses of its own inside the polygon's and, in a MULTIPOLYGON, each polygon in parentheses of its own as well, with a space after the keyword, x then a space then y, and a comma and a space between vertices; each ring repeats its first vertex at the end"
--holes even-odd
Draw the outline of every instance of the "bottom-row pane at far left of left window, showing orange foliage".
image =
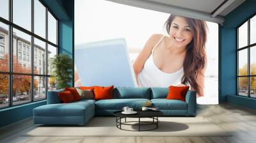
POLYGON ((0 74, 0 109, 9 105, 8 75, 0 74))

